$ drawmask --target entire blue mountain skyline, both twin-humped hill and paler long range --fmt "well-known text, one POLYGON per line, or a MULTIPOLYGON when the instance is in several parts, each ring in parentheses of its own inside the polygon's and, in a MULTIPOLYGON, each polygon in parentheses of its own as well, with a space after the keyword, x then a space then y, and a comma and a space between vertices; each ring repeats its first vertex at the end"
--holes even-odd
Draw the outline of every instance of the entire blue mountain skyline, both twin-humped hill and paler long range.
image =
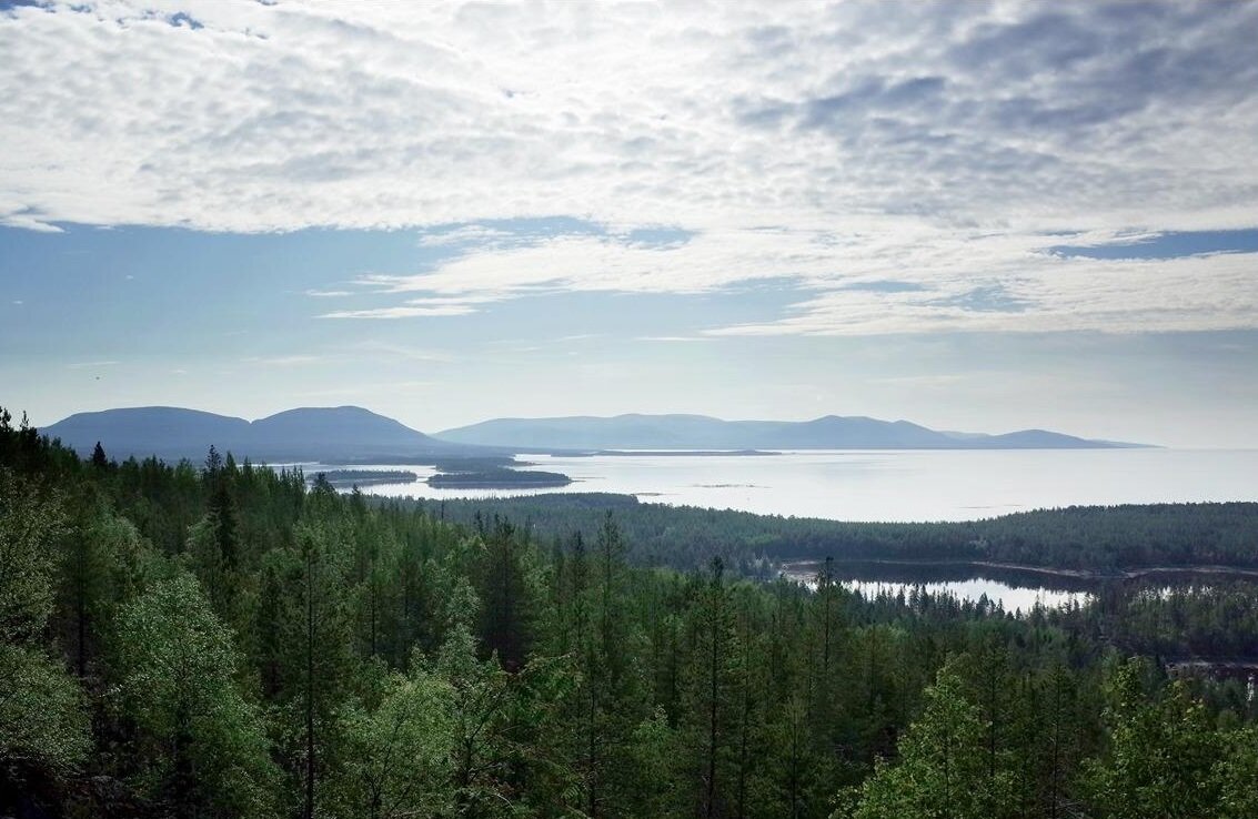
POLYGON ((727 421, 706 415, 494 419, 425 435, 360 406, 302 408, 248 421, 174 406, 79 413, 42 430, 81 454, 322 463, 424 463, 507 452, 615 449, 1096 449, 1132 447, 1042 429, 1003 435, 940 432, 910 421, 827 415, 809 421, 727 421))

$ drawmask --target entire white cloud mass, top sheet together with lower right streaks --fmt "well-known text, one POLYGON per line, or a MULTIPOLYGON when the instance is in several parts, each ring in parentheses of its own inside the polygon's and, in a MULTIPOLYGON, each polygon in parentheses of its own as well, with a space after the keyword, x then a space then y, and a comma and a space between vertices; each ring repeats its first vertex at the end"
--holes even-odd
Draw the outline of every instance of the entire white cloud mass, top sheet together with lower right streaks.
POLYGON ((98 0, 0 40, 0 223, 424 228, 323 318, 772 288, 696 332, 1258 326, 1253 254, 1050 252, 1254 226, 1253 3, 98 0))

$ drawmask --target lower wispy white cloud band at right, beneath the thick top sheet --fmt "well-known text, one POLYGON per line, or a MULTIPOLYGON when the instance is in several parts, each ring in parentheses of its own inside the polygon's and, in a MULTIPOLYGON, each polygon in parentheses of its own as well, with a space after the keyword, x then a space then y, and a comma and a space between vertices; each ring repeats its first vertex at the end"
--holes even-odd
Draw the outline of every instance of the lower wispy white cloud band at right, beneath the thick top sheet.
MULTIPOLYGON (((1099 233, 1078 234, 1093 242, 1099 233)), ((342 318, 462 316, 548 293, 766 294, 784 315, 691 336, 933 331, 1232 330, 1258 316, 1258 254, 1098 258, 1055 252, 1060 235, 927 229, 913 220, 824 229, 710 230, 683 244, 556 235, 472 249, 413 274, 372 273, 362 293, 401 303, 342 318), (772 270, 775 276, 765 276, 772 270)))

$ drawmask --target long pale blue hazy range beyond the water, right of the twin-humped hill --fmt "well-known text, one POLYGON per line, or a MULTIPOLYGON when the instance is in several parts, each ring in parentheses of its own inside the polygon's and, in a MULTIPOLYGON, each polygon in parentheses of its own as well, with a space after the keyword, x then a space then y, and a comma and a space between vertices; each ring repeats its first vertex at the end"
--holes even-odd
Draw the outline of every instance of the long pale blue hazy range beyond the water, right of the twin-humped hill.
POLYGON ((1042 429, 947 433, 910 421, 827 415, 810 421, 726 421, 706 415, 501 418, 438 433, 460 444, 528 450, 600 449, 1101 449, 1132 447, 1042 429))

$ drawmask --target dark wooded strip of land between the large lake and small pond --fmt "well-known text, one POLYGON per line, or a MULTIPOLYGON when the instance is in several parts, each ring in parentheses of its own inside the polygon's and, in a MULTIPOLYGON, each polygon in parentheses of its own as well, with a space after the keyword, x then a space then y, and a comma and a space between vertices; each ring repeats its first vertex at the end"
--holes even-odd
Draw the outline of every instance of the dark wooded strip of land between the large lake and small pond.
MULTIPOLYGON (((419 502, 433 507, 433 501, 419 502)), ((440 502, 438 502, 440 503, 440 502)), ((435 507, 433 507, 435 508, 435 507)), ((442 513, 528 523, 533 536, 598 531, 614 508, 635 556, 681 569, 721 556, 745 574, 769 561, 993 561, 1053 569, 1258 567, 1258 503, 1088 506, 950 523, 860 523, 640 503, 618 494, 445 501, 442 513)))

